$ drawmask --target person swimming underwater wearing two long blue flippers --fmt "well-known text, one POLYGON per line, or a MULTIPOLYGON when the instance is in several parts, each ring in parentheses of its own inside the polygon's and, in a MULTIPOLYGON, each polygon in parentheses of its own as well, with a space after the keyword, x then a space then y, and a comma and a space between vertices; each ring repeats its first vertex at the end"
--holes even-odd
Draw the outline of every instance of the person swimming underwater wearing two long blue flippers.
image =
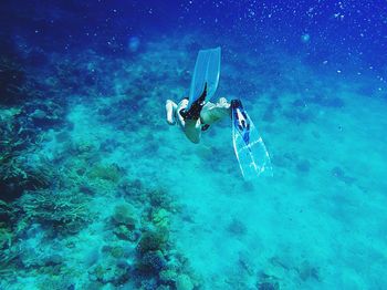
POLYGON ((189 99, 182 99, 179 104, 166 102, 166 115, 169 125, 178 121, 187 138, 192 143, 200 142, 202 131, 224 117, 232 120, 232 144, 242 175, 245 179, 260 176, 270 170, 269 153, 258 134, 251 118, 243 110, 240 100, 227 103, 224 97, 217 104, 206 102, 211 100, 218 89, 220 75, 220 48, 199 51, 189 99))

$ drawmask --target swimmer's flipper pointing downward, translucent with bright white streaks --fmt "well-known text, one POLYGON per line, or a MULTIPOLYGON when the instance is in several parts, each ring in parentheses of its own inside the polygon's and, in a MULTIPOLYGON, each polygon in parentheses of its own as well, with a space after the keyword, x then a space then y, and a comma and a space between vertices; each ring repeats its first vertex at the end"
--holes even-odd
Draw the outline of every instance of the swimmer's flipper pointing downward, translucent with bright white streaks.
POLYGON ((241 101, 231 101, 232 143, 244 179, 265 173, 272 176, 266 147, 241 101))

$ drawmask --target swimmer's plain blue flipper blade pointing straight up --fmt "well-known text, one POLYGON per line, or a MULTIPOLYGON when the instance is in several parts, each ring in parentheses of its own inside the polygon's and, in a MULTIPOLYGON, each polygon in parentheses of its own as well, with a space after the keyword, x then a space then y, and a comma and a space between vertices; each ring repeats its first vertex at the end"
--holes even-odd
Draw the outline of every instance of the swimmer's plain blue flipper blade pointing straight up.
POLYGON ((220 48, 199 51, 189 91, 187 111, 189 111, 195 102, 202 96, 203 91, 206 91, 203 103, 211 100, 218 89, 219 74, 220 48))

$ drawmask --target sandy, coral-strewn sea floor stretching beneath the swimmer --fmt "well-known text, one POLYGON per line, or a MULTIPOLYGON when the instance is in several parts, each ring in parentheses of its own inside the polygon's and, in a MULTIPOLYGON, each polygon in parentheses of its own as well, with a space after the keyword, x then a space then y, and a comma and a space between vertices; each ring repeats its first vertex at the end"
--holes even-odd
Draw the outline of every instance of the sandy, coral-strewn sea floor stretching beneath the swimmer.
POLYGON ((206 45, 0 58, 0 289, 383 289, 386 93, 229 43, 219 96, 274 172, 244 183, 229 121, 199 145, 165 121, 206 45))

